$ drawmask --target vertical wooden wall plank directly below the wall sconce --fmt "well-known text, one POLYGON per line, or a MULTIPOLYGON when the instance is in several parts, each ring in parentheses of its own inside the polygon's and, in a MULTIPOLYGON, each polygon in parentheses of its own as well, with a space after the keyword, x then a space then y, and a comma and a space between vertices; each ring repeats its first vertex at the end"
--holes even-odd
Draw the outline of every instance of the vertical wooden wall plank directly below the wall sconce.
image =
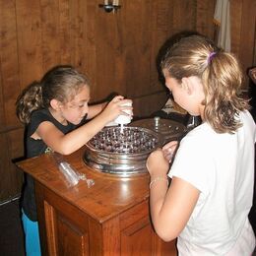
POLYGON ((126 94, 122 34, 126 25, 121 22, 124 13, 124 3, 116 13, 106 13, 96 7, 96 73, 100 76, 96 76, 94 94, 98 98, 113 92, 126 94))

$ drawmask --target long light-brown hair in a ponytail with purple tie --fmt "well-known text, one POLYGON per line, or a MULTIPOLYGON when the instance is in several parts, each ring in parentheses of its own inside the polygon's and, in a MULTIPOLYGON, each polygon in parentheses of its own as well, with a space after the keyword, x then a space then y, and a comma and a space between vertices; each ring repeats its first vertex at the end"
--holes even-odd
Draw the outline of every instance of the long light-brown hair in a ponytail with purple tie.
POLYGON ((202 35, 181 38, 161 61, 161 69, 178 82, 183 77, 202 80, 204 120, 218 133, 233 133, 241 124, 238 112, 249 108, 241 96, 242 72, 237 59, 202 35))

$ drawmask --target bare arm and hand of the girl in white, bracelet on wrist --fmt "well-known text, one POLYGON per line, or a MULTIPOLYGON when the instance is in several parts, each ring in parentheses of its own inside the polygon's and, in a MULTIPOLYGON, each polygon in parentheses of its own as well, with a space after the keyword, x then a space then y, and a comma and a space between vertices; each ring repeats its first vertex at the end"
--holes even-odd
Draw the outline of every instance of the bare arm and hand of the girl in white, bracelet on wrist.
POLYGON ((173 177, 167 187, 168 160, 158 150, 151 154, 147 167, 153 182, 150 189, 152 221, 160 238, 175 239, 187 224, 197 203, 200 191, 190 183, 173 177))

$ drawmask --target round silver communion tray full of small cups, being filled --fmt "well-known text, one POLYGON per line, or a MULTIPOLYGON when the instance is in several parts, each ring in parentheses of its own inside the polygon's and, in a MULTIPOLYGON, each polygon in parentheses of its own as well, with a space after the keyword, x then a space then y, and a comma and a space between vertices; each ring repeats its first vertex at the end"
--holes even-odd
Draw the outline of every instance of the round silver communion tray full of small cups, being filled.
POLYGON ((161 136, 142 127, 105 127, 86 145, 83 160, 100 172, 130 176, 147 172, 146 160, 161 136))

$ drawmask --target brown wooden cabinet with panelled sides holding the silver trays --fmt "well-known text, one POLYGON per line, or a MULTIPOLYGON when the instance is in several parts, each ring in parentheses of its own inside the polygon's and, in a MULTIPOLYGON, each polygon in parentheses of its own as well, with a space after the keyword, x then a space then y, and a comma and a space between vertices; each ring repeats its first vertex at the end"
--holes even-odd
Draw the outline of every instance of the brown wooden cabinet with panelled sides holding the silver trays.
POLYGON ((50 155, 18 165, 35 179, 43 255, 176 255, 175 241, 160 240, 149 213, 149 176, 98 173, 82 160, 67 160, 95 180, 68 187, 50 155))

